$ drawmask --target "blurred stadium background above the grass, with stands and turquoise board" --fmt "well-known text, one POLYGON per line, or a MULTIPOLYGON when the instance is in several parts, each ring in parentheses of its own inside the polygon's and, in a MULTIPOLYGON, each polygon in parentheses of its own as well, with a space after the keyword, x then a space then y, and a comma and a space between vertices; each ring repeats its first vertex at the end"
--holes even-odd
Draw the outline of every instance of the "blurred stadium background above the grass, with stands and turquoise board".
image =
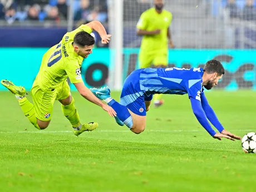
MULTIPOLYGON (((141 38, 136 36, 136 23, 151 6, 151 0, 2 0, 0 78, 29 90, 43 53, 67 31, 96 19, 104 23, 112 40, 103 46, 93 32, 96 45, 83 62, 82 76, 88 87, 109 85, 120 90, 125 77, 139 66, 141 38)), ((256 90, 255 7, 251 0, 166 1, 165 8, 173 13, 175 45, 169 50, 169 66, 198 67, 216 58, 227 70, 218 88, 256 90)))

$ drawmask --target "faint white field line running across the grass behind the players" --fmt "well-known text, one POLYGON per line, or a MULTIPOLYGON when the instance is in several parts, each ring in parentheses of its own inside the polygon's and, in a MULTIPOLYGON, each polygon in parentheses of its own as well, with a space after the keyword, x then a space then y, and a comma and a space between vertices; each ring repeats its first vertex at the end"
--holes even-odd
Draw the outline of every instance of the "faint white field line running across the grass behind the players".
MULTIPOLYGON (((145 130, 146 132, 200 132, 205 130, 145 130)), ((237 130, 229 130, 229 131, 256 131, 252 129, 237 129, 237 130)), ((0 131, 0 134, 51 134, 51 133, 70 133, 72 131, 0 131)), ((94 132, 130 132, 129 130, 96 130, 94 132)))

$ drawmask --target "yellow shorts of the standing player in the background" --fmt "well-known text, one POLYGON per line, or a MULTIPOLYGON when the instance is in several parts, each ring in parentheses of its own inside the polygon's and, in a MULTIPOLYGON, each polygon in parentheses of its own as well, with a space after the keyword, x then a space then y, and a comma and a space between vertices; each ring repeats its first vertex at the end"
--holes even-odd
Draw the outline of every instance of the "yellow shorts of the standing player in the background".
POLYGON ((151 67, 151 65, 168 65, 168 54, 160 52, 158 54, 147 54, 145 51, 139 54, 140 68, 151 67))

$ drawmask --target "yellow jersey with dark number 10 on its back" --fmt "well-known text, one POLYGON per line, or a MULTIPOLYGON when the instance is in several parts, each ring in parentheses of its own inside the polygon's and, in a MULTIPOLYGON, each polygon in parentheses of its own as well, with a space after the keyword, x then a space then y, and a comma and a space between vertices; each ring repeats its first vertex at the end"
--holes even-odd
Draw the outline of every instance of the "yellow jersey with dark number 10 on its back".
POLYGON ((55 89, 67 77, 71 83, 82 82, 80 67, 83 57, 78 56, 73 48, 73 39, 76 33, 85 31, 91 33, 92 29, 85 24, 71 32, 67 32, 60 43, 53 46, 43 55, 42 64, 36 80, 42 90, 55 89))

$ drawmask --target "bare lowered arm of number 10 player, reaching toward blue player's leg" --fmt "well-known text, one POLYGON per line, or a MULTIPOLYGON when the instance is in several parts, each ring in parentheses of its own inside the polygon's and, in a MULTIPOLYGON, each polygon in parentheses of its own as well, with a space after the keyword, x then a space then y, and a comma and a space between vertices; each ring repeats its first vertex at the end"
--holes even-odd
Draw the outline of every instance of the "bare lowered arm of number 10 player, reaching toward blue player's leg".
POLYGON ((99 105, 103 110, 107 111, 111 117, 116 116, 116 112, 109 105, 104 104, 100 99, 98 99, 93 93, 83 84, 83 82, 74 83, 77 88, 77 91, 88 101, 91 101, 93 104, 99 105))

